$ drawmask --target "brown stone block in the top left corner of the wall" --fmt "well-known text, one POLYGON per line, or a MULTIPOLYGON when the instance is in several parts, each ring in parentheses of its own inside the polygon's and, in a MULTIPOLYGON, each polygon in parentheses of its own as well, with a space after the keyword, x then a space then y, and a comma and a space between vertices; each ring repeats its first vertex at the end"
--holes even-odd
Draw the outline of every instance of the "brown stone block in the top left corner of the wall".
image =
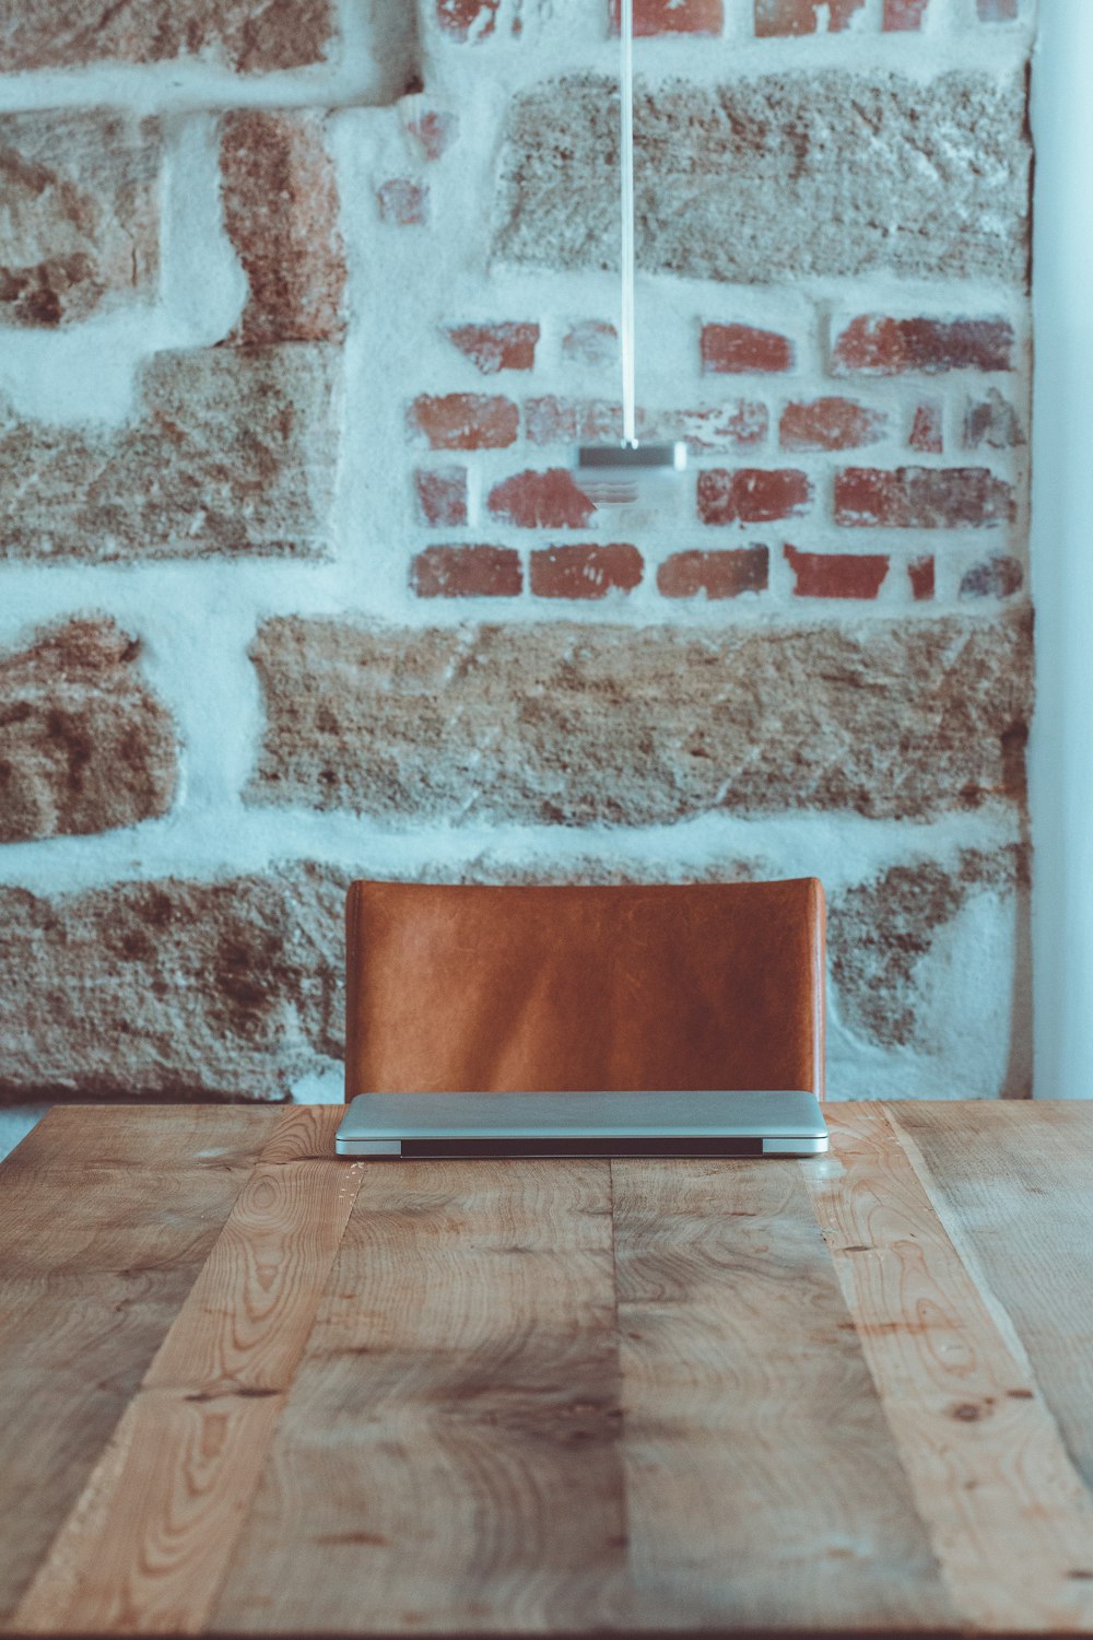
POLYGON ((265 74, 321 62, 336 43, 333 0, 18 0, 0 15, 8 74, 182 57, 265 74))

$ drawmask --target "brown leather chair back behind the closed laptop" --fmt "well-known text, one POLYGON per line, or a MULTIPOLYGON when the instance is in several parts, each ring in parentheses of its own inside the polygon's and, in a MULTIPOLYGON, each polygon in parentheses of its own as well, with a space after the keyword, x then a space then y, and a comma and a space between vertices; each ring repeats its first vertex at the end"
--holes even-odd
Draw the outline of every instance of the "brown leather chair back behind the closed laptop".
POLYGON ((816 877, 652 887, 354 882, 346 1097, 824 1094, 816 877))

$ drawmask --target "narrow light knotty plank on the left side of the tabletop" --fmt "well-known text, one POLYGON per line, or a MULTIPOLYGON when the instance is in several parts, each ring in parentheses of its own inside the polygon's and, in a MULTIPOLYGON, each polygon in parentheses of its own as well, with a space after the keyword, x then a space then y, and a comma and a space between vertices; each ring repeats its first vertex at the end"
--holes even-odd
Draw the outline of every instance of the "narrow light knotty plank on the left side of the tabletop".
POLYGON ((339 1117, 280 1115, 20 1602, 21 1632, 205 1624, 361 1184, 362 1164, 333 1155, 339 1117))

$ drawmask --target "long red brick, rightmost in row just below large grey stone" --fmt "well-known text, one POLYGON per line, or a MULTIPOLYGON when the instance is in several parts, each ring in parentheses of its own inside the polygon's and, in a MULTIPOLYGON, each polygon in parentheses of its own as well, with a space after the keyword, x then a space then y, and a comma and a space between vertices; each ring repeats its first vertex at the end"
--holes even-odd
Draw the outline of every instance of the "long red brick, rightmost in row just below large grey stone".
POLYGON ((1013 325, 1005 318, 877 318, 862 313, 836 341, 831 372, 1011 371, 1013 344, 1013 325))

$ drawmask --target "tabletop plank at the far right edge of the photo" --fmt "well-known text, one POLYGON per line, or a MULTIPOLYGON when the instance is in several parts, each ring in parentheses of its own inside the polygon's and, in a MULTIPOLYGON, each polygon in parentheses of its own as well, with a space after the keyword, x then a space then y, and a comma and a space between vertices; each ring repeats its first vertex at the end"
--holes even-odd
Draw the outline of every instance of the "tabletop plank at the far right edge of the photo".
POLYGON ((888 1109, 1093 1491, 1093 1102, 888 1109))

